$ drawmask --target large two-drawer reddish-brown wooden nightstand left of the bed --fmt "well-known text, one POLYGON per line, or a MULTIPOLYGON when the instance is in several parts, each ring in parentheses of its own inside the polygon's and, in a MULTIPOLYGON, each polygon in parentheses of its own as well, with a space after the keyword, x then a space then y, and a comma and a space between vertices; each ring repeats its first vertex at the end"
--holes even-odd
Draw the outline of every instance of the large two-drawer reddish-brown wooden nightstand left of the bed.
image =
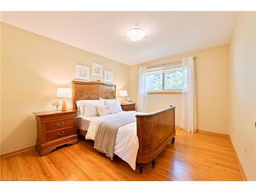
POLYGON ((36 112, 37 140, 36 151, 39 156, 47 155, 57 146, 76 144, 77 110, 36 112))

